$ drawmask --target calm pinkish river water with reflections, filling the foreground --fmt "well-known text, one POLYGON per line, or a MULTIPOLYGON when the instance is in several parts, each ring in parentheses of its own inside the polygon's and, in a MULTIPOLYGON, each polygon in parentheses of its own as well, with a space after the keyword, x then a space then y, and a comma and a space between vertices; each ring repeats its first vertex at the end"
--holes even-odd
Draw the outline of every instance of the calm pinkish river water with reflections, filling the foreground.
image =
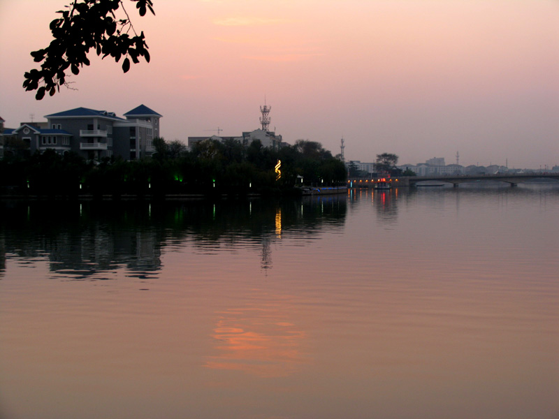
POLYGON ((558 186, 0 210, 1 418, 559 418, 558 186))

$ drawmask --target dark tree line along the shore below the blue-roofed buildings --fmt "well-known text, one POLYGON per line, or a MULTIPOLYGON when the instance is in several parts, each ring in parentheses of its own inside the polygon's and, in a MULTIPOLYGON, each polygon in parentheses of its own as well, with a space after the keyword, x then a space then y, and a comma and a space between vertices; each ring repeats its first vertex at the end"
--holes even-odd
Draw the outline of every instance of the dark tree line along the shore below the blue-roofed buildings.
POLYGON ((154 140, 156 153, 138 161, 87 161, 53 150, 0 161, 1 196, 279 195, 298 186, 344 184, 344 163, 319 142, 298 140, 280 149, 256 140, 204 140, 188 150, 181 142, 154 140), (279 163, 279 166, 278 166, 279 163))

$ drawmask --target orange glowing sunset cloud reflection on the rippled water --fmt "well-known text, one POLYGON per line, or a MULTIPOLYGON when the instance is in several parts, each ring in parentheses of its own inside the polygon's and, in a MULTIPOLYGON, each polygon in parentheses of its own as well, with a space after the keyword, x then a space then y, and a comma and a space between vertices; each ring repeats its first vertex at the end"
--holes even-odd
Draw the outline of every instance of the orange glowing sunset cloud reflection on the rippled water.
POLYGON ((283 304, 251 304, 220 313, 213 337, 219 355, 205 367, 238 370, 266 377, 289 376, 303 362, 300 341, 305 333, 287 318, 283 304))

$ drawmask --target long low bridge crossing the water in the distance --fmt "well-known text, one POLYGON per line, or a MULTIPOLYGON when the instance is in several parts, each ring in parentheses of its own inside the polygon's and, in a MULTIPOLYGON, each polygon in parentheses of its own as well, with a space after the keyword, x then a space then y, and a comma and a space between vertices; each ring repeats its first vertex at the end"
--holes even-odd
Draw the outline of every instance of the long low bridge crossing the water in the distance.
MULTIPOLYGON (((390 182, 391 186, 416 186, 419 182, 441 182, 453 184, 458 187, 459 184, 467 182, 505 182, 511 186, 526 182, 532 179, 556 179, 559 181, 559 173, 515 173, 495 174, 495 175, 451 175, 451 176, 401 176, 384 179, 390 182)), ((349 179, 348 186, 353 188, 372 188, 377 179, 349 179)))

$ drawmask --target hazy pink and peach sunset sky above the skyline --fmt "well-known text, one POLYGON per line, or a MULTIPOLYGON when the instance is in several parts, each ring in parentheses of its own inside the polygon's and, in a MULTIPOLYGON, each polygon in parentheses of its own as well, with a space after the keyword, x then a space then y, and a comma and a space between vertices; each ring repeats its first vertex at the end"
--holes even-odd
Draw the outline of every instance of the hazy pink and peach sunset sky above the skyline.
POLYGON ((144 104, 161 136, 270 129, 346 161, 398 154, 463 166, 559 165, 558 0, 154 0, 140 17, 150 64, 101 60, 73 89, 36 101, 29 52, 70 1, 0 0, 0 117, 44 121, 80 106, 121 116, 144 104))

